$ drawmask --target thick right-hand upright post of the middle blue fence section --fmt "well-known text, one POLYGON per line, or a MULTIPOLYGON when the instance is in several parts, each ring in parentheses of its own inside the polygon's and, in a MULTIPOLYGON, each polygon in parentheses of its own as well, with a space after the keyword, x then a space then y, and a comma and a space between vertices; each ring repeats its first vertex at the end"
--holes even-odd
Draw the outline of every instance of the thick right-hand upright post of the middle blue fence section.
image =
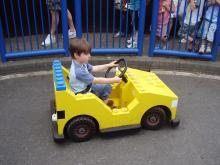
POLYGON ((145 16, 146 16, 146 0, 140 1, 140 16, 139 16, 139 30, 138 30, 138 55, 143 54, 143 43, 144 43, 144 27, 145 27, 145 16))

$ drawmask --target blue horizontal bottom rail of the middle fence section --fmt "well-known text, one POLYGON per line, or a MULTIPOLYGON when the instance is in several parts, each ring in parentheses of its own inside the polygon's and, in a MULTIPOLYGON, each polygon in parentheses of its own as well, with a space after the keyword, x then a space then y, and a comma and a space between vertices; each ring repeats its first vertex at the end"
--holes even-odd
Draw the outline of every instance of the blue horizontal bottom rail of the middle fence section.
POLYGON ((138 54, 137 48, 93 48, 92 53, 94 54, 138 54))

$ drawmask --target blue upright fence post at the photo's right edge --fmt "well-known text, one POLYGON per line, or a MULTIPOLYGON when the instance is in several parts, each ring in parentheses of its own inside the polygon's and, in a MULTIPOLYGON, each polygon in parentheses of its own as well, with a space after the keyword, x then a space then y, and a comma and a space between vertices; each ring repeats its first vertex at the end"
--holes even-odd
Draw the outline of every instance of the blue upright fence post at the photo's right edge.
POLYGON ((215 32, 215 39, 212 45, 212 61, 216 61, 218 48, 220 46, 220 12, 218 13, 218 22, 215 32))

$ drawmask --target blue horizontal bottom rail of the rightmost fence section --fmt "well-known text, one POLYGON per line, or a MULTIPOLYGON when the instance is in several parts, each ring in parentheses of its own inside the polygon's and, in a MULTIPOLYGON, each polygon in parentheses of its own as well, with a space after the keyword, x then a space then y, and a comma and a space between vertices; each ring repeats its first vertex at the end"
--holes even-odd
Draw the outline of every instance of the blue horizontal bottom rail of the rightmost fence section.
POLYGON ((162 50, 155 49, 154 55, 166 55, 166 56, 176 56, 176 57, 191 57, 191 58, 200 58, 200 59, 212 59, 211 54, 198 54, 193 52, 181 52, 178 50, 162 50))

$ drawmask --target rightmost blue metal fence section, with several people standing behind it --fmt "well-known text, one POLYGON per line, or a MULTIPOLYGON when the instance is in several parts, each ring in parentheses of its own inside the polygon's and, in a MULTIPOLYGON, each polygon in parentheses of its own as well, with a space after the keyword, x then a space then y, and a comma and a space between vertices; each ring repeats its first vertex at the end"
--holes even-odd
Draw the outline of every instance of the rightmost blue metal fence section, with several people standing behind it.
POLYGON ((219 5, 195 0, 195 9, 192 10, 190 7, 188 0, 153 1, 150 56, 168 55, 216 60, 220 40, 219 5), (169 4, 169 9, 163 7, 165 3, 169 4), (175 7, 175 11, 172 11, 172 7, 175 7), (206 12, 209 12, 209 15, 206 12), (172 14, 176 14, 175 21, 172 14), (211 33, 208 31, 210 28, 211 33), (211 35, 215 36, 214 41, 211 35))

